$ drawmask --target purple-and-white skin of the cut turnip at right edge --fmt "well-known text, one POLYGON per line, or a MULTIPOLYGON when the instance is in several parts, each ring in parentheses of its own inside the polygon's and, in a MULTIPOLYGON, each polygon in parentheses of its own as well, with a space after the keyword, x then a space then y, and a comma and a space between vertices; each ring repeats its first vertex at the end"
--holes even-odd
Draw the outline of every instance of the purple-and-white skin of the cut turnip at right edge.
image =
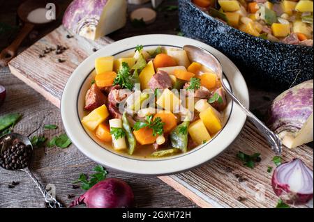
POLYGON ((276 97, 269 109, 267 125, 284 141, 296 136, 313 113, 313 79, 276 97))

